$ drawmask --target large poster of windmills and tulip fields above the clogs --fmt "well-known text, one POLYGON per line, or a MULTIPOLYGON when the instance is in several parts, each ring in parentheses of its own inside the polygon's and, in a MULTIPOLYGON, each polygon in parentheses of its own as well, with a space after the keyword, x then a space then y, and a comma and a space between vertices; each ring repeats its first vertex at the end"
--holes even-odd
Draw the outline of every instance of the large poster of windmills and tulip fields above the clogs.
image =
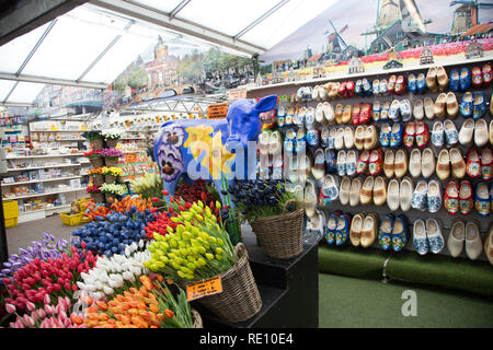
POLYGON ((423 47, 438 56, 463 54, 460 43, 471 38, 491 50, 492 21, 490 0, 337 1, 260 59, 274 70, 345 65, 354 56, 383 61, 390 49, 404 60, 419 59, 423 47))

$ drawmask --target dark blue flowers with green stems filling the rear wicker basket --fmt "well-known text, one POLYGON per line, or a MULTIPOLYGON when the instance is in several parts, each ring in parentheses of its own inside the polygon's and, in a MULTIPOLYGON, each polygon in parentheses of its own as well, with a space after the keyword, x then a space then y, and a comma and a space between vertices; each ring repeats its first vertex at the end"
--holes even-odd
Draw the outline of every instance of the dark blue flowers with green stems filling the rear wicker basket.
MULTIPOLYGON (((255 218, 280 215, 285 203, 295 199, 283 182, 273 179, 239 180, 229 185, 228 191, 249 222, 253 222, 255 218)), ((288 206, 289 211, 295 209, 288 206)))

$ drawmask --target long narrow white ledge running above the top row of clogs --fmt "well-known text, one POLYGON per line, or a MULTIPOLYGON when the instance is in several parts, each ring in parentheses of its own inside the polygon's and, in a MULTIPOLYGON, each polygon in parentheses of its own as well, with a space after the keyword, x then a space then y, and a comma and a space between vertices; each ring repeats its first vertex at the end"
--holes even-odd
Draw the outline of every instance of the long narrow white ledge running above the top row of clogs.
MULTIPOLYGON (((447 59, 439 59, 439 58, 437 59, 437 58, 435 58, 435 62, 431 63, 431 65, 405 66, 405 63, 404 63, 404 67, 393 68, 393 69, 383 69, 381 67, 378 67, 378 68, 377 67, 369 67, 369 68, 365 67, 365 71, 362 73, 348 74, 347 70, 343 70, 343 71, 339 71, 339 72, 326 73, 330 75, 326 78, 298 80, 298 81, 283 82, 283 83, 278 83, 278 84, 262 85, 262 86, 251 86, 251 88, 246 88, 246 92, 326 83, 326 82, 331 82, 331 81, 337 81, 341 79, 355 80, 356 78, 367 78, 367 77, 371 77, 371 75, 406 73, 406 72, 412 72, 412 71, 416 71, 416 70, 429 69, 435 66, 443 66, 445 68, 448 66, 457 66, 457 65, 481 63, 481 62, 490 61, 492 59, 493 59, 493 51, 486 51, 486 52, 484 52, 484 57, 468 59, 468 60, 463 60, 461 62, 458 62, 457 59, 448 59, 448 58, 447 59)), ((382 66, 383 66, 383 63, 382 63, 382 66)))

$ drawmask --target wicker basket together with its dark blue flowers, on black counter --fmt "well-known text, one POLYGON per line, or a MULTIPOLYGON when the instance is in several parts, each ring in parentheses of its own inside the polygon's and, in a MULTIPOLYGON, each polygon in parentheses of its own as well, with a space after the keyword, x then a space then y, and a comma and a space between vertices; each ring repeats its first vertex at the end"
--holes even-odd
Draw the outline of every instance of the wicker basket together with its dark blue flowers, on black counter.
POLYGON ((305 211, 296 208, 293 192, 273 179, 236 182, 228 192, 249 221, 265 255, 289 259, 302 252, 305 211))

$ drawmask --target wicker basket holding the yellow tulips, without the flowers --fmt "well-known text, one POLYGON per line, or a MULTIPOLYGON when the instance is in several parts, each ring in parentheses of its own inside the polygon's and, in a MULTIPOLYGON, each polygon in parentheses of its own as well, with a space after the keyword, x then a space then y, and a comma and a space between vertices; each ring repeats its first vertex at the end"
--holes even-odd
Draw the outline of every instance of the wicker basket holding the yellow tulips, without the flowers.
POLYGON ((243 322, 255 316, 262 307, 262 299, 249 262, 249 254, 242 243, 234 247, 234 265, 221 273, 222 292, 204 296, 197 303, 228 323, 243 322))

